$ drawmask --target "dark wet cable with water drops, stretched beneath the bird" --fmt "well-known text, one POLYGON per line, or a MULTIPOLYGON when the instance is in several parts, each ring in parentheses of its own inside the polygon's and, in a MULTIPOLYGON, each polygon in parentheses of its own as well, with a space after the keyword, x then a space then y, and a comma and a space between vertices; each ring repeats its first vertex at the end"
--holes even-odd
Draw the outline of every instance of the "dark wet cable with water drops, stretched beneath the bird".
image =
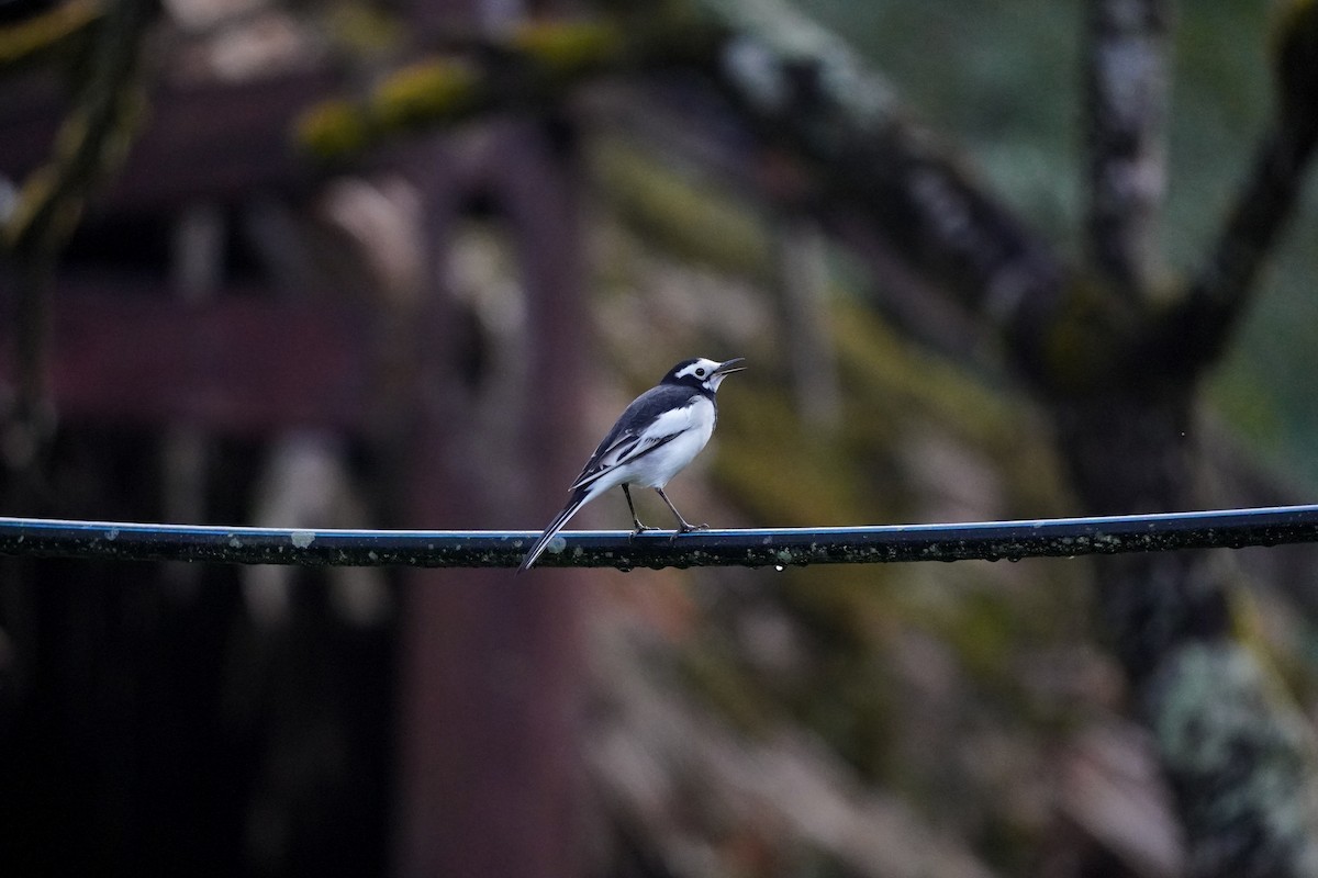
MULTIPOLYGON (((304 566, 515 567, 526 530, 314 530, 0 517, 0 554, 304 566)), ((1035 521, 559 534, 540 567, 1019 561, 1318 541, 1318 505, 1035 521)))

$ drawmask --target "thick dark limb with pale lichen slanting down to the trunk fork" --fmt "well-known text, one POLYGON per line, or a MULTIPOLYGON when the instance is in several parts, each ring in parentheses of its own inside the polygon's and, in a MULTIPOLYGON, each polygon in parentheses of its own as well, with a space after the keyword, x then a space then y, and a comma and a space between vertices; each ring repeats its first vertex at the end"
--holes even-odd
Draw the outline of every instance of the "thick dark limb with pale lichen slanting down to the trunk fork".
POLYGON ((692 1, 720 38, 705 70, 768 142, 816 172, 912 267, 1008 338, 1035 376, 1064 270, 1041 237, 986 194, 905 115, 888 83, 779 0, 692 1))

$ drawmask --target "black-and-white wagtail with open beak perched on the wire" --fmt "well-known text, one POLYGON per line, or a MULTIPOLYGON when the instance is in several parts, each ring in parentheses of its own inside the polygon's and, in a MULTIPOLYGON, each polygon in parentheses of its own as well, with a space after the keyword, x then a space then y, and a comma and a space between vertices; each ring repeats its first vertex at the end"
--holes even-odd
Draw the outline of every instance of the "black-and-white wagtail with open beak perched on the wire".
POLYGON ((688 524, 663 488, 709 442, 714 421, 718 420, 714 394, 725 378, 745 369, 739 365, 742 362, 741 357, 722 363, 704 358, 685 359, 673 366, 658 386, 631 400, 618 423, 600 442, 600 448, 594 449, 581 475, 568 488, 572 492, 568 504, 550 521, 550 527, 544 528, 544 533, 522 558, 518 573, 535 563, 550 540, 577 509, 618 484, 627 498, 637 533, 658 528, 647 528, 637 517, 637 507, 631 504, 633 484, 659 492, 677 516, 679 525, 673 536, 705 528, 706 525, 688 524))

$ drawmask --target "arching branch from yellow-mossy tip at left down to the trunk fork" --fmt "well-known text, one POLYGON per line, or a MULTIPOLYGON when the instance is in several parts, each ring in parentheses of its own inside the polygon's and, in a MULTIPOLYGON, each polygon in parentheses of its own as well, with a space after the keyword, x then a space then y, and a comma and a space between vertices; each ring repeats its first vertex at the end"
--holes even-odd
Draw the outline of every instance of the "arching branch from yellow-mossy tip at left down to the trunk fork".
POLYGON ((779 0, 605 4, 612 17, 531 24, 460 59, 399 71, 372 95, 312 107, 298 140, 323 158, 405 130, 560 99, 604 75, 708 75, 768 142, 803 157, 833 204, 1010 337, 1035 375, 1064 271, 1044 241, 907 118, 845 43, 779 0))

